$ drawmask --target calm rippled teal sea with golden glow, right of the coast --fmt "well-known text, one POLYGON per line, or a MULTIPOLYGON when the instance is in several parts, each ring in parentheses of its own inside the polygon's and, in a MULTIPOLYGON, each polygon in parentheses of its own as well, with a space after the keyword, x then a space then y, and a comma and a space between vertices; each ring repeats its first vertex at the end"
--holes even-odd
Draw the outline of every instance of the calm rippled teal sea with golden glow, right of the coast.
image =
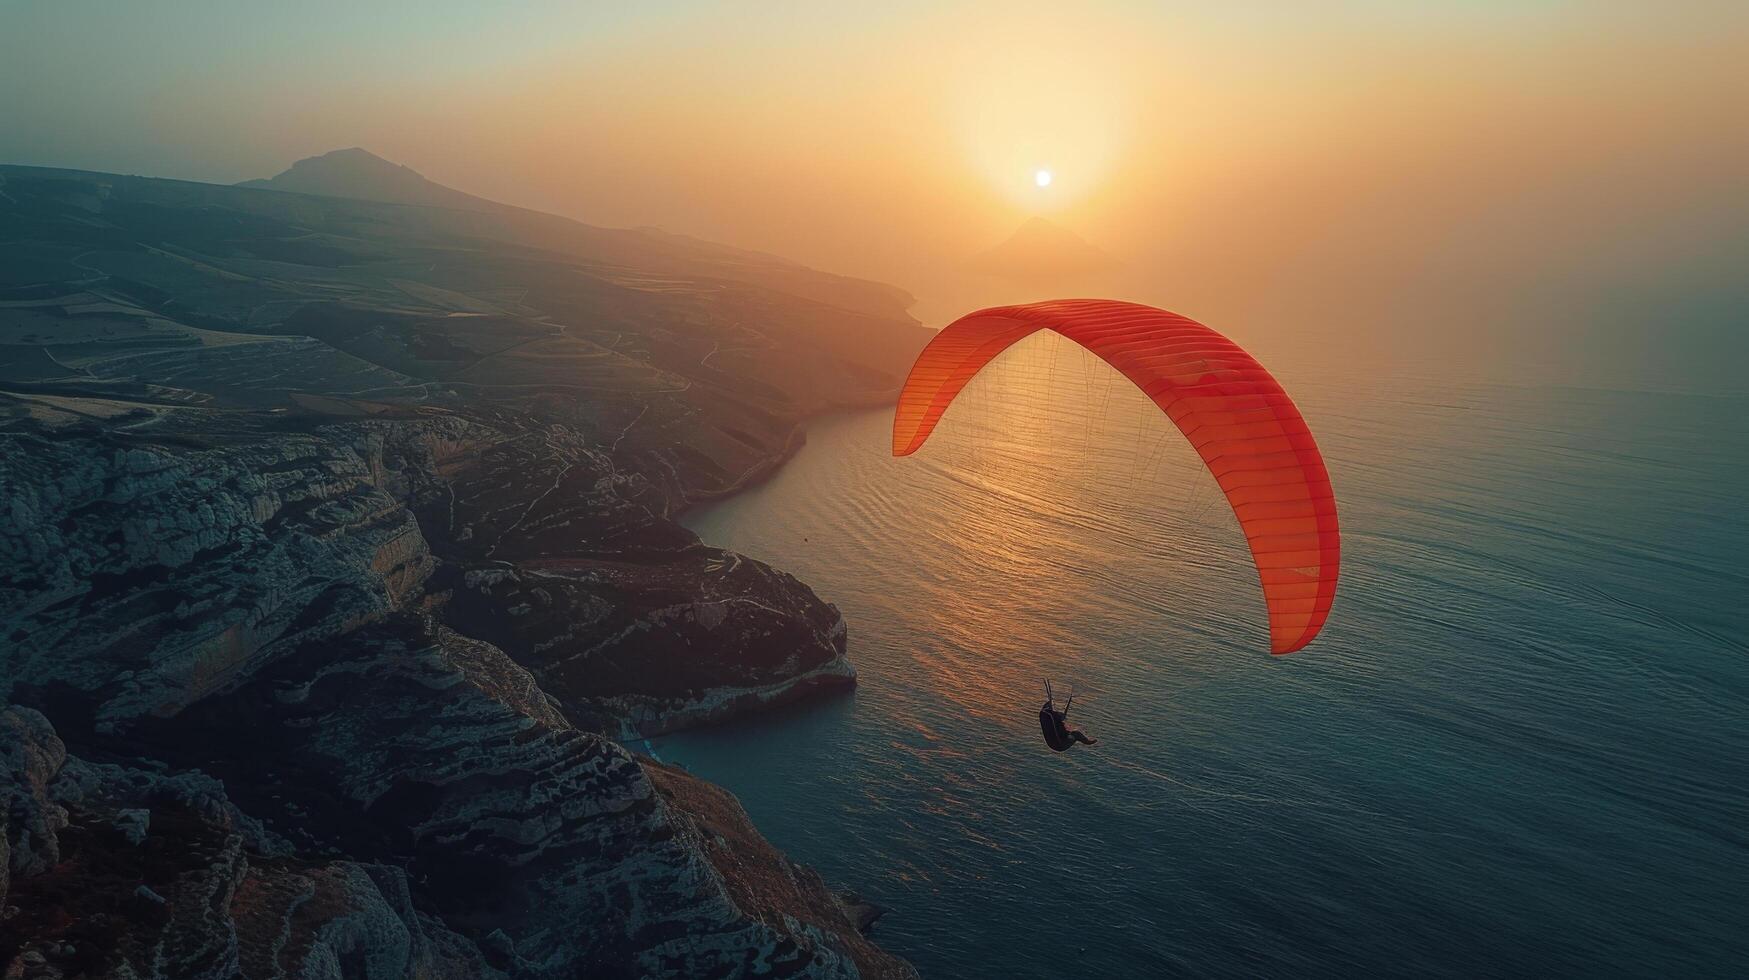
POLYGON ((826 420, 691 518, 861 686, 654 751, 925 976, 1744 975, 1749 399, 1279 373, 1341 500, 1307 651, 1184 439, 1041 336, 920 455, 826 420), (1046 677, 1098 747, 1044 749, 1046 677))

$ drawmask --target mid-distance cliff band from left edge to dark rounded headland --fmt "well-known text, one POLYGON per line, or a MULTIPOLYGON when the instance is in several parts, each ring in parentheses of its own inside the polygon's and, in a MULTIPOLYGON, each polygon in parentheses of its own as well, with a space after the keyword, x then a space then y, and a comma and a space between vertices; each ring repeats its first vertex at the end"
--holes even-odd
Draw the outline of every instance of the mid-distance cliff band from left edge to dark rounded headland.
POLYGON ((836 609, 656 516, 652 485, 568 427, 441 415, 191 446, 189 425, 0 429, 0 695, 112 732, 409 606, 603 732, 854 679, 836 609))

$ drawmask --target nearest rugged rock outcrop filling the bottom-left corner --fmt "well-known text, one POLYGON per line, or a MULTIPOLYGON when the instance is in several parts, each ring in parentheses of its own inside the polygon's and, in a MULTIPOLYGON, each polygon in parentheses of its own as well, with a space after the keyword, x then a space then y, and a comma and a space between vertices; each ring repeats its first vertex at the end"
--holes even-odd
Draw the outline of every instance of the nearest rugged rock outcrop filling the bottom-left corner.
POLYGON ((0 962, 23 975, 497 973, 415 908, 401 868, 301 856, 198 772, 72 758, 30 709, 0 709, 0 732, 14 749, 0 761, 14 856, 0 962))

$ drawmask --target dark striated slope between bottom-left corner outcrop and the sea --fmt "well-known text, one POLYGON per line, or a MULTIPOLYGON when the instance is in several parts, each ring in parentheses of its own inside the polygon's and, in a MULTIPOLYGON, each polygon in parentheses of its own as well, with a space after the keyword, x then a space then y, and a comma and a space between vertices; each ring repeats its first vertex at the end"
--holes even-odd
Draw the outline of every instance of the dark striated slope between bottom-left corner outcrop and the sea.
POLYGON ((665 975, 680 948, 717 973, 759 948, 777 971, 854 975, 826 940, 855 933, 841 914, 813 919, 805 947, 749 915, 677 831, 645 763, 544 704, 495 696, 528 690, 519 670, 490 644, 456 649, 429 621, 390 620, 129 742, 227 782, 245 765, 322 774, 238 798, 289 814, 269 826, 301 852, 402 863, 441 919, 497 936, 488 959, 516 975, 665 975), (210 749, 241 737, 247 763, 210 749))

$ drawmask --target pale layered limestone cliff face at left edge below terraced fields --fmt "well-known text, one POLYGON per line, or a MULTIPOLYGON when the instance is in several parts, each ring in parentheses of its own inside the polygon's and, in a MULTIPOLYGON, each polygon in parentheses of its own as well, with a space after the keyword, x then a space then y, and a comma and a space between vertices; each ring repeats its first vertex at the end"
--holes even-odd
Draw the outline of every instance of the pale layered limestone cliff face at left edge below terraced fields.
POLYGON ((378 620, 434 567, 413 514, 320 438, 0 438, 0 677, 70 688, 105 726, 378 620))

